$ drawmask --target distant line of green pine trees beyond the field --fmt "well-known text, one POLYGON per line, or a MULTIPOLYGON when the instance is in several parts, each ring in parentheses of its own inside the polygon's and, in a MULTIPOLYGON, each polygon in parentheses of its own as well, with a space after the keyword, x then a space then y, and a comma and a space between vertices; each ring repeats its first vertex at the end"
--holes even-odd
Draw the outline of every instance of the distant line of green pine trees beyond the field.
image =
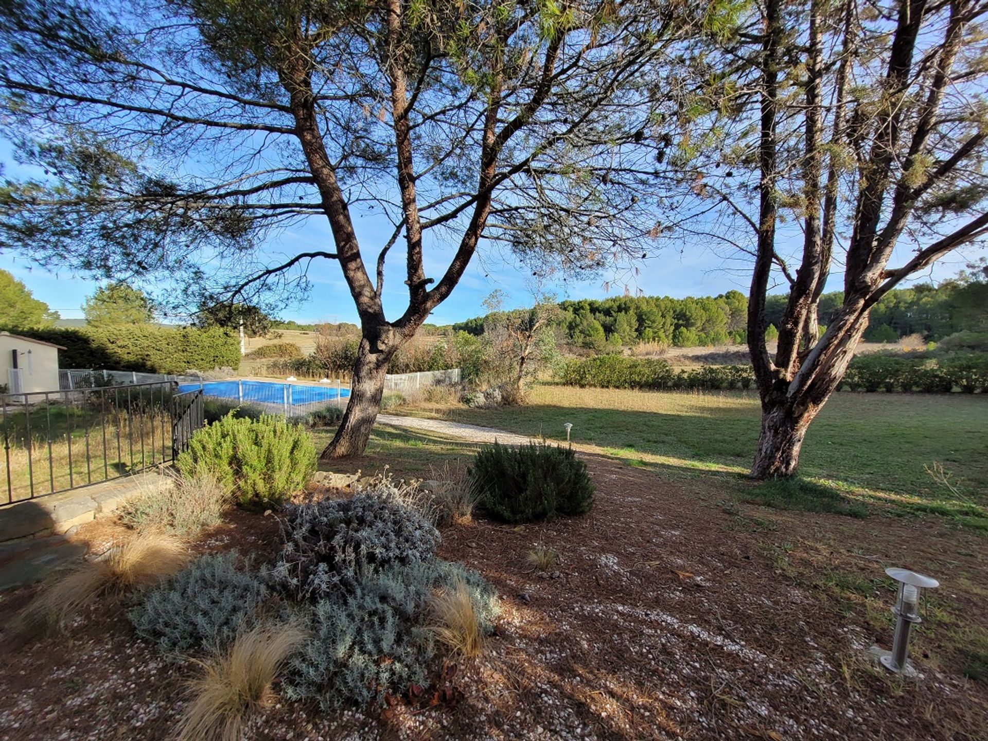
MULTIPOLYGON (((826 326, 843 301, 842 291, 824 293, 819 321, 826 326)), ((766 306, 769 339, 782 321, 788 296, 770 295, 766 306)), ((638 343, 676 347, 743 344, 748 299, 738 290, 716 296, 614 296, 559 303, 556 326, 569 345, 607 351, 638 343)), ((453 330, 481 335, 488 316, 453 324, 453 330)), ((928 284, 889 291, 871 310, 867 342, 897 342, 921 335, 939 342, 957 332, 988 331, 988 268, 962 272, 940 286, 928 284)))

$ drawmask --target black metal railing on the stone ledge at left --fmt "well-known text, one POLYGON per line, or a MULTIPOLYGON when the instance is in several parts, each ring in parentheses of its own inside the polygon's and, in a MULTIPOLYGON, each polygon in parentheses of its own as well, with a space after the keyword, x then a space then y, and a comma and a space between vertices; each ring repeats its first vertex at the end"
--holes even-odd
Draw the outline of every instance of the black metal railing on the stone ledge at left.
MULTIPOLYGON (((158 381, 0 396, 6 488, 0 506, 172 460, 182 403, 176 388, 174 381, 158 381)), ((201 401, 197 419, 202 427, 201 401)))

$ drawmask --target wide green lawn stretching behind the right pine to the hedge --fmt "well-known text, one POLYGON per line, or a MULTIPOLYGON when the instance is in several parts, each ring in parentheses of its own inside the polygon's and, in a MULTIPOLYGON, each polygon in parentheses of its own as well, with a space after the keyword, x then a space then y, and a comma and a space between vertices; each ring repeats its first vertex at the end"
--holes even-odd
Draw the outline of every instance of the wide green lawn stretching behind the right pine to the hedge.
MULTIPOLYGON (((754 393, 656 392, 536 386, 529 404, 419 408, 475 425, 592 444, 637 465, 744 473, 758 440, 754 393)), ((988 517, 988 395, 835 394, 811 425, 800 474, 843 496, 908 509, 988 517), (941 463, 956 492, 925 466, 941 463)), ((769 498, 778 492, 768 490, 769 498)), ((988 521, 984 522, 988 527, 988 521)))

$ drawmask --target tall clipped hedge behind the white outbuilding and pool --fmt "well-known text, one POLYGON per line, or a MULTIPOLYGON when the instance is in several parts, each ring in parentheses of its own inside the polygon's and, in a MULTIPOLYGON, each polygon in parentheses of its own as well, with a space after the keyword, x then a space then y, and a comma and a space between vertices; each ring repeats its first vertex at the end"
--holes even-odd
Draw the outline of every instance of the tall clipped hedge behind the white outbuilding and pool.
POLYGON ((11 334, 61 345, 60 368, 181 373, 196 369, 237 369, 240 344, 229 330, 161 327, 154 324, 82 329, 17 329, 11 334))

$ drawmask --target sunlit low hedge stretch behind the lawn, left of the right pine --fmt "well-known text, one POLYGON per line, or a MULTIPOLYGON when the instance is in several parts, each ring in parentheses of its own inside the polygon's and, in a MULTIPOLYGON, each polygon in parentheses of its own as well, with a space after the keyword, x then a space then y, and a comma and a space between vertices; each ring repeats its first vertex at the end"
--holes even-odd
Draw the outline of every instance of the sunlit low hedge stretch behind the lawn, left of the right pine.
POLYGON ((749 366, 704 366, 675 371, 663 360, 604 355, 571 360, 558 380, 572 386, 648 389, 750 388, 755 375, 749 366))

